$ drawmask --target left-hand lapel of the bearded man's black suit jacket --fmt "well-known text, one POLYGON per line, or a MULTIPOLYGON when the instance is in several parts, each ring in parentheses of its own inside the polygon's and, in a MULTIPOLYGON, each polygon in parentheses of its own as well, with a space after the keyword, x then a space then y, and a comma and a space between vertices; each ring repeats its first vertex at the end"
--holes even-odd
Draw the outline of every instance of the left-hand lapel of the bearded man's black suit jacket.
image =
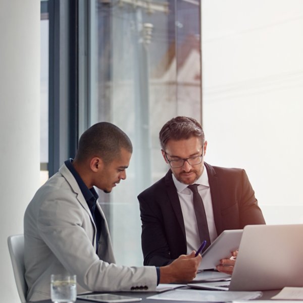
POLYGON ((185 226, 184 226, 184 220, 183 220, 180 200, 179 200, 179 196, 178 196, 176 186, 175 186, 174 181, 173 181, 171 170, 169 170, 168 173, 165 176, 165 186, 166 186, 166 190, 167 190, 167 194, 168 194, 170 203, 173 207, 173 210, 175 212, 175 215, 177 217, 177 220, 178 220, 178 222, 180 224, 180 227, 181 227, 181 230, 183 232, 184 239, 186 239, 185 226))

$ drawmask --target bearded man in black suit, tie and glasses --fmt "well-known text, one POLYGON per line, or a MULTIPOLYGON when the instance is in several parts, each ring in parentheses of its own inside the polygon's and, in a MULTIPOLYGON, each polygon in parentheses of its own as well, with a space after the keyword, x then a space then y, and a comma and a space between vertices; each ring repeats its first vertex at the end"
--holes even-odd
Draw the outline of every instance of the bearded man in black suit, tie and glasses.
MULTIPOLYGON (((171 119, 160 142, 170 170, 138 195, 144 265, 167 265, 204 239, 209 246, 223 230, 265 224, 245 171, 204 162, 207 141, 195 119, 171 119), (191 184, 197 184, 195 197, 191 184)), ((231 273, 233 265, 224 259, 217 269, 231 273)))

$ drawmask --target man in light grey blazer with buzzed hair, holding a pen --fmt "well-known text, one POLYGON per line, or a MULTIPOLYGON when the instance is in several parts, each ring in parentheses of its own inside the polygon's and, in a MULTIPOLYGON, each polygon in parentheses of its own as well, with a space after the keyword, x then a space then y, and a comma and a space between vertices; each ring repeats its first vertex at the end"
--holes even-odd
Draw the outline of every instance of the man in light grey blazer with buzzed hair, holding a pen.
POLYGON ((67 160, 34 195, 24 215, 27 300, 50 297, 51 274, 77 275, 77 292, 156 289, 157 284, 190 281, 201 256, 194 251, 169 266, 115 264, 108 225, 93 186, 105 192, 126 178, 132 154, 127 135, 101 122, 79 140, 67 160))

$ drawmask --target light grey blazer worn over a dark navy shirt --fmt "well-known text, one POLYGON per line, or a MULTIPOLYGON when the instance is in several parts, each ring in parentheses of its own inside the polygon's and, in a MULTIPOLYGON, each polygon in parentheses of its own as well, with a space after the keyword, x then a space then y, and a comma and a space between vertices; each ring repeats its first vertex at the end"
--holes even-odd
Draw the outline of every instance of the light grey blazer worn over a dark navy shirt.
POLYGON ((27 300, 50 297, 51 274, 77 275, 77 292, 155 290, 155 267, 115 264, 104 213, 96 254, 96 227, 81 190, 63 165, 34 195, 24 215, 27 300))

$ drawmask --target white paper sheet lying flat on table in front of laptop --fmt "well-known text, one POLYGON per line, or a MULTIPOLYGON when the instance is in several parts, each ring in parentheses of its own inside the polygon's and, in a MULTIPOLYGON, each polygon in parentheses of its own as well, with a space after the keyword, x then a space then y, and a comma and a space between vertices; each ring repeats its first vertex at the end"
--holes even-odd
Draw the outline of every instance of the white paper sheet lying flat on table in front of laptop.
POLYGON ((175 301, 208 301, 226 302, 233 300, 251 300, 262 296, 261 291, 216 291, 175 289, 147 297, 147 299, 175 300, 175 301))

